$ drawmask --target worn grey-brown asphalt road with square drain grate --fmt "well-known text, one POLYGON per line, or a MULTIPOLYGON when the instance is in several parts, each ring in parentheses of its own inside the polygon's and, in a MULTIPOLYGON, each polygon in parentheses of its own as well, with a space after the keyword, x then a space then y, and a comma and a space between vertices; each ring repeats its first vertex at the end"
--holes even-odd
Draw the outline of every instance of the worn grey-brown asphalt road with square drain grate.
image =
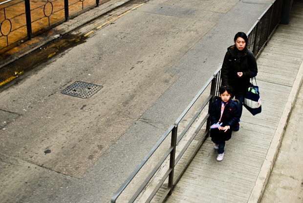
POLYGON ((150 0, 74 30, 91 34, 0 90, 2 201, 109 202, 270 2, 150 0), (103 88, 61 93, 76 81, 103 88))

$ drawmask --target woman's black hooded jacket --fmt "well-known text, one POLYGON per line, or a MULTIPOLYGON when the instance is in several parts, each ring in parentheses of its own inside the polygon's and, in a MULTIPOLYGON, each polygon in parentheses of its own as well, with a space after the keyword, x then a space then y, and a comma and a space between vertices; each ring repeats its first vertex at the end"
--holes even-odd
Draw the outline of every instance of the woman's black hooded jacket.
POLYGON ((250 59, 247 59, 249 50, 245 47, 242 56, 238 58, 236 49, 236 45, 227 48, 221 70, 222 85, 229 85, 232 88, 233 96, 244 94, 248 88, 250 78, 258 73, 254 54, 251 52, 250 59), (238 77, 237 72, 243 72, 243 75, 238 77))

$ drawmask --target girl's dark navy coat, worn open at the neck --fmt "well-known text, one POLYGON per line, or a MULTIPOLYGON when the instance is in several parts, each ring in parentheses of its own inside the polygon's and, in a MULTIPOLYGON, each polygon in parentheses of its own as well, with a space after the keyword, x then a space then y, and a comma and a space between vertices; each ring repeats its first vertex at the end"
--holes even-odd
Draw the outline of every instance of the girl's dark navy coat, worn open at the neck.
MULTIPOLYGON (((215 97, 214 102, 211 107, 209 118, 211 120, 211 125, 217 123, 221 116, 221 98, 215 97)), ((238 112, 238 103, 239 101, 237 99, 232 100, 230 99, 228 101, 228 104, 226 104, 221 121, 222 127, 224 126, 230 126, 230 129, 228 129, 226 132, 222 130, 218 130, 217 128, 211 129, 211 137, 216 140, 224 140, 227 141, 232 136, 232 127, 234 124, 236 124, 239 120, 239 112, 238 112)))

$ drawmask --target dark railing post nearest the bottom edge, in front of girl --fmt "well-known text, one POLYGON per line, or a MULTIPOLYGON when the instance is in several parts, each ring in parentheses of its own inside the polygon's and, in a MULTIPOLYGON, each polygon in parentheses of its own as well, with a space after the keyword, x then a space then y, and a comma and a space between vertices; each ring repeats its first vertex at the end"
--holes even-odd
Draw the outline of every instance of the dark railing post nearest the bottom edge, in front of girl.
POLYGON ((170 158, 170 168, 172 169, 172 171, 168 178, 168 187, 170 188, 169 195, 173 194, 173 172, 174 172, 174 159, 175 159, 175 153, 176 153, 177 128, 178 128, 178 126, 174 126, 173 131, 172 131, 171 146, 173 147, 173 151, 171 152, 171 158, 170 158))

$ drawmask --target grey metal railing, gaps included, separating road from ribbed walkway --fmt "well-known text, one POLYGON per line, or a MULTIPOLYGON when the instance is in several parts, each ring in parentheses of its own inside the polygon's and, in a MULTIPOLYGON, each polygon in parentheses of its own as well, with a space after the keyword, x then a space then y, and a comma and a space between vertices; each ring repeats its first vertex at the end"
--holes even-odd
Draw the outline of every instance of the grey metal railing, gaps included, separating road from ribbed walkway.
MULTIPOLYGON (((249 30, 247 47, 256 57, 281 21, 283 3, 284 0, 272 2, 249 30)), ((172 194, 176 182, 210 133, 208 109, 214 96, 218 95, 220 72, 221 67, 125 180, 112 197, 111 203, 116 203, 118 197, 119 202, 123 203, 162 203, 172 194), (189 121, 184 124, 184 120, 189 121), (151 158, 153 156, 157 158, 151 158)))

